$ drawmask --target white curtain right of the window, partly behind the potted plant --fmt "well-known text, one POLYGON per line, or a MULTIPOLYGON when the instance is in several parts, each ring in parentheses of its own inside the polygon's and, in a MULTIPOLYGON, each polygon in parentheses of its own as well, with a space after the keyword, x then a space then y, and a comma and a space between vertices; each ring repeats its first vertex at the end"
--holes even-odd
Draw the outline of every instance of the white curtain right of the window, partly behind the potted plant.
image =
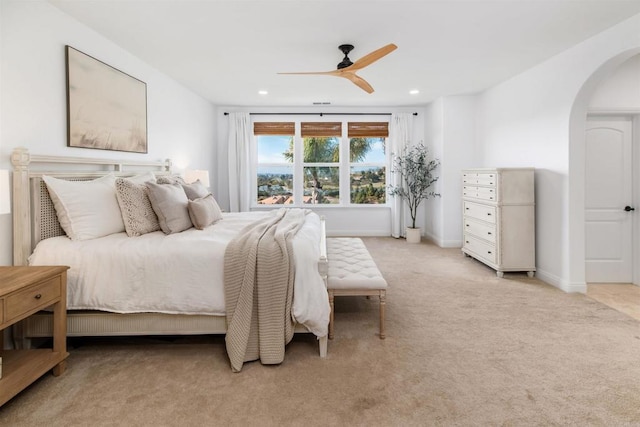
MULTIPOLYGON (((412 113, 398 113, 391 115, 389 123, 389 147, 391 150, 391 166, 396 155, 410 144, 412 135, 413 115, 412 113)), ((402 179, 399 174, 390 174, 392 186, 402 185, 402 179)), ((391 198, 391 235, 393 237, 401 237, 405 234, 405 211, 406 204, 399 197, 391 198)))

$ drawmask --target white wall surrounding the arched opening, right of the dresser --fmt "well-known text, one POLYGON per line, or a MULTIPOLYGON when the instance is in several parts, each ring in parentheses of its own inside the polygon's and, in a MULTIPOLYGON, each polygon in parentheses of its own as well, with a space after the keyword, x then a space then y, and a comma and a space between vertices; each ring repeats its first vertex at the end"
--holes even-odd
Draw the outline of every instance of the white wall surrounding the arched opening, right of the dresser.
POLYGON ((595 88, 590 77, 599 74, 603 64, 619 61, 611 64, 618 65, 637 53, 638 28, 640 15, 497 85, 478 99, 483 166, 537 168, 537 274, 565 291, 586 288, 584 170, 580 166, 584 155, 576 146, 584 143, 586 103, 595 88))

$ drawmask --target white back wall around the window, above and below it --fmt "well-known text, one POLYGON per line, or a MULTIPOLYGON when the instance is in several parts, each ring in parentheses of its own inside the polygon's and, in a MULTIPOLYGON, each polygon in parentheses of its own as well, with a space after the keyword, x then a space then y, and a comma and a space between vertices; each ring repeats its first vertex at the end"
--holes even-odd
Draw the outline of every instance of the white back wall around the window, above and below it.
MULTIPOLYGON (((424 108, 265 108, 265 107, 219 107, 217 110, 217 141, 216 156, 219 160, 217 166, 217 182, 213 187, 214 195, 219 200, 222 209, 229 208, 228 181, 228 116, 225 112, 246 111, 251 113, 399 113, 417 112, 414 117, 413 141, 424 140, 424 108)), ((309 117, 313 117, 310 115, 309 117)), ((327 224, 327 234, 331 236, 389 236, 391 235, 391 208, 388 206, 357 206, 347 207, 311 207, 320 215, 324 215, 327 224)), ((423 206, 423 209, 425 206, 423 206)), ((407 215, 407 218, 409 216, 407 215)), ((424 221, 424 215, 420 217, 424 221)))

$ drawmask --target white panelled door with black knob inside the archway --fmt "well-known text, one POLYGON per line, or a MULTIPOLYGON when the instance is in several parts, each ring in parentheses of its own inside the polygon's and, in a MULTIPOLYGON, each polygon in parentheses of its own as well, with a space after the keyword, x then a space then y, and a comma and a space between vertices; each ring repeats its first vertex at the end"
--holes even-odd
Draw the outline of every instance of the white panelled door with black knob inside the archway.
POLYGON ((633 281, 632 122, 588 120, 585 165, 587 283, 633 281), (625 210, 625 208, 627 210, 625 210))

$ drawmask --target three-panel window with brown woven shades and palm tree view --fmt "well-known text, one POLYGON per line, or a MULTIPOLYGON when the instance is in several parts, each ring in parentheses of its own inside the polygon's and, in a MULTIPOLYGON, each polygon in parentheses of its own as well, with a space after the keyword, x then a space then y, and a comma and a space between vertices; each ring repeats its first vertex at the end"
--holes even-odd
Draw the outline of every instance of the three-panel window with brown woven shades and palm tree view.
POLYGON ((386 202, 388 123, 255 122, 258 205, 386 202))

